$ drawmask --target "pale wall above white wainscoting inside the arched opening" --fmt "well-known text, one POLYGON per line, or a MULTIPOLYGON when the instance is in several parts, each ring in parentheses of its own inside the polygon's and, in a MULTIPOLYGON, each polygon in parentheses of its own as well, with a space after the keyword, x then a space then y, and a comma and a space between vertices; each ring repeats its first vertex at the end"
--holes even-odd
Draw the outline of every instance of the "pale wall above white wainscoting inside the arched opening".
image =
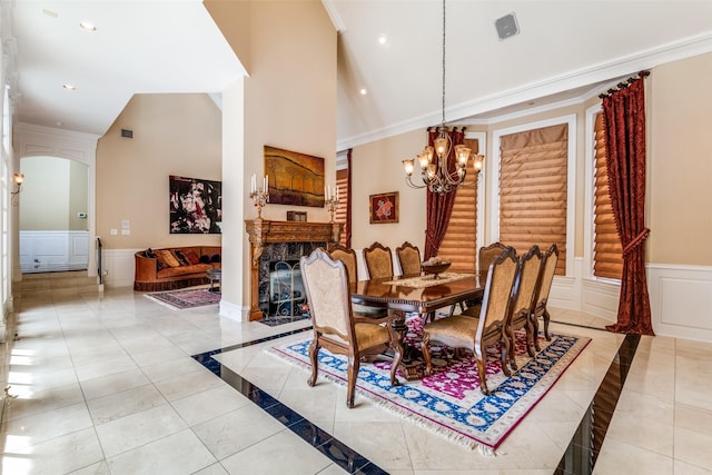
POLYGON ((26 157, 20 202, 20 230, 87 230, 87 166, 58 157, 26 157))

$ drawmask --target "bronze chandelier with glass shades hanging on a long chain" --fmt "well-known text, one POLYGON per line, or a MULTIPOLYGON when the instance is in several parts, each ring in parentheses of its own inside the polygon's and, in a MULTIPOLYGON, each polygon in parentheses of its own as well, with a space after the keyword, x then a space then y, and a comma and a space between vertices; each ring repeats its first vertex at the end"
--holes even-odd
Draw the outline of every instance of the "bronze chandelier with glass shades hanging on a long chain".
MULTIPOLYGON (((445 195, 454 191, 465 181, 467 175, 467 161, 472 149, 464 145, 453 147, 449 136, 449 129, 445 125, 445 0, 443 0, 443 96, 442 106, 443 115, 441 125, 437 128, 437 138, 433 141, 433 146, 426 146, 417 156, 421 167, 421 178, 423 184, 413 182, 413 171, 415 170, 416 158, 403 160, 405 168, 405 181, 411 188, 427 187, 432 192, 445 195), (453 154, 454 149, 454 154, 453 154), (454 164, 451 164, 451 155, 454 164)), ((475 155, 473 157, 474 172, 479 174, 484 157, 475 155)))

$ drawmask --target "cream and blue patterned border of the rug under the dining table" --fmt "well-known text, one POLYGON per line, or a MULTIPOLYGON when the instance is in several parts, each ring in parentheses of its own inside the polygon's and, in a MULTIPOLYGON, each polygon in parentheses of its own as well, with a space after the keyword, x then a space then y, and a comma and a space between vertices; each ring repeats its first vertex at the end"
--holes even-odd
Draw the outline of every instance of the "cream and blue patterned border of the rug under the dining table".
MULTIPOLYGON (((387 377, 387 375, 384 374, 383 370, 374 370, 373 365, 360 366, 359 379, 356 384, 356 392, 357 395, 362 395, 368 398, 384 409, 404 417, 411 422, 414 422, 418 426, 422 426, 429 432, 437 434, 438 436, 445 437, 468 448, 478 448, 483 454, 492 455, 494 454, 494 451, 500 446, 500 444, 504 442, 504 439, 512 433, 512 431, 514 431, 514 428, 536 406, 536 404, 538 404, 538 402, 544 398, 544 396, 556 384, 558 378, 564 374, 568 366, 571 366, 571 364, 578 357, 578 355, 583 353, 584 348, 591 342, 591 338, 589 337, 577 337, 563 334, 552 334, 552 337, 553 338, 551 343, 541 338, 543 343, 547 344, 547 347, 542 348, 542 352, 537 353, 536 356, 530 359, 526 364, 520 365, 518 372, 514 373, 510 377, 504 377, 504 380, 502 380, 502 383, 496 388, 492 384, 490 384, 488 377, 487 382, 493 393, 490 396, 482 397, 477 402, 477 405, 481 405, 483 407, 486 405, 490 405, 491 407, 508 406, 508 408, 502 414, 501 417, 496 419, 493 418, 494 420, 486 431, 478 431, 476 427, 462 422, 462 419, 467 420, 468 414, 465 414, 465 410, 469 409, 467 409, 466 407, 458 407, 453 403, 452 397, 445 394, 438 394, 434 396, 433 393, 436 392, 435 389, 414 386, 413 383, 417 382, 407 382, 404 385, 392 387, 389 377, 387 377), (528 378, 521 377, 521 375, 525 373, 525 368, 527 368, 527 366, 530 365, 532 366, 532 368, 545 366, 546 360, 548 360, 548 358, 545 357, 545 352, 547 352, 548 348, 552 348, 553 345, 558 345, 558 340, 568 342, 568 347, 566 348, 564 354, 561 355, 561 357, 558 357, 548 369, 546 369, 542 377, 537 378, 534 383, 527 380, 528 378), (365 379, 363 377, 364 375, 366 375, 366 379, 370 379, 372 377, 374 377, 380 380, 378 380, 376 384, 365 383, 365 379), (522 389, 522 387, 525 387, 527 385, 528 388, 525 390, 523 396, 516 398, 515 400, 512 400, 512 396, 508 393, 504 393, 504 390, 495 390, 506 385, 518 387, 520 390, 522 389), (409 402, 407 397, 398 394, 409 389, 414 390, 415 393, 425 394, 424 397, 426 398, 426 402, 428 399, 435 398, 438 398, 438 400, 429 400, 427 402, 427 405, 425 403, 418 404, 409 402), (396 398, 395 400, 394 397, 396 398), (412 407, 408 407, 409 405, 412 407), (432 406, 433 408, 429 408, 427 406, 432 406), (443 414, 443 412, 438 414, 435 408, 443 410, 452 409, 452 415, 443 414), (415 412, 416 409, 418 409, 419 413, 415 412), (457 417, 459 417, 461 420, 458 420, 457 417)), ((295 356, 297 352, 289 348, 305 344, 308 346, 309 342, 312 342, 312 337, 306 337, 297 342, 291 342, 289 344, 268 348, 267 353, 274 355, 279 359, 294 364, 295 366, 298 366, 304 370, 310 372, 312 365, 308 362, 308 356, 295 356)), ((319 352, 319 360, 322 362, 324 357, 332 358, 336 362, 342 362, 344 365, 346 364, 345 358, 343 358, 340 355, 332 355, 329 352, 322 348, 322 350, 319 352)), ((327 366, 325 364, 322 364, 319 366, 319 378, 324 377, 325 379, 344 386, 346 385, 346 379, 345 376, 340 376, 340 374, 344 374, 344 372, 339 370, 338 368, 334 368, 330 365, 327 366)), ((403 378, 400 378, 400 380, 404 382, 403 378)), ((504 389, 506 389, 506 387, 504 389)), ((478 392, 479 388, 477 387, 476 390, 478 392)), ((414 398, 415 394, 412 394, 411 397, 414 398)), ((472 407, 474 406, 471 406, 471 408, 472 407)))

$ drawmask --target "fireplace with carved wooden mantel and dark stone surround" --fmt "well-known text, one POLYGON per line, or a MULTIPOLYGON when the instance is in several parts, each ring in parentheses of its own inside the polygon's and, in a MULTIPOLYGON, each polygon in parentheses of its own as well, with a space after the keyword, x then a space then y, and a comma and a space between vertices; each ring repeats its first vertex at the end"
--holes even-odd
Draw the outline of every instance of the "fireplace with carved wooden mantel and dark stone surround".
POLYGON ((306 303, 299 258, 308 256, 317 247, 326 249, 338 243, 342 227, 339 222, 268 221, 261 218, 245 221, 251 266, 249 320, 287 310, 291 313, 284 315, 299 315, 297 311, 306 303), (287 285, 290 286, 288 289, 287 285))

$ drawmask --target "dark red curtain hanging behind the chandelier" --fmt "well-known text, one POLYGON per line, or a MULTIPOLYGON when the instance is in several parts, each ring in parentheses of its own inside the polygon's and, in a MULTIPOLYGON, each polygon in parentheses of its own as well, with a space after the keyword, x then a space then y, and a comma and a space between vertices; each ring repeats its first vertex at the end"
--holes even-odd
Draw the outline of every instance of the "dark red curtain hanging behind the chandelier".
MULTIPOLYGON (((437 130, 428 129, 427 144, 433 146, 437 138, 437 130)), ((452 140, 452 147, 449 148, 449 155, 447 156, 447 164, 453 165, 455 161, 455 146, 462 145, 465 140, 465 129, 454 129, 449 131, 449 138, 452 140)), ((454 171, 455 167, 451 171, 454 171)), ((453 214, 453 205, 455 205, 455 194, 457 190, 446 192, 444 195, 432 192, 427 190, 427 228, 425 229, 425 260, 431 257, 437 256, 437 250, 441 248, 445 231, 447 230, 447 224, 449 217, 453 214)))

